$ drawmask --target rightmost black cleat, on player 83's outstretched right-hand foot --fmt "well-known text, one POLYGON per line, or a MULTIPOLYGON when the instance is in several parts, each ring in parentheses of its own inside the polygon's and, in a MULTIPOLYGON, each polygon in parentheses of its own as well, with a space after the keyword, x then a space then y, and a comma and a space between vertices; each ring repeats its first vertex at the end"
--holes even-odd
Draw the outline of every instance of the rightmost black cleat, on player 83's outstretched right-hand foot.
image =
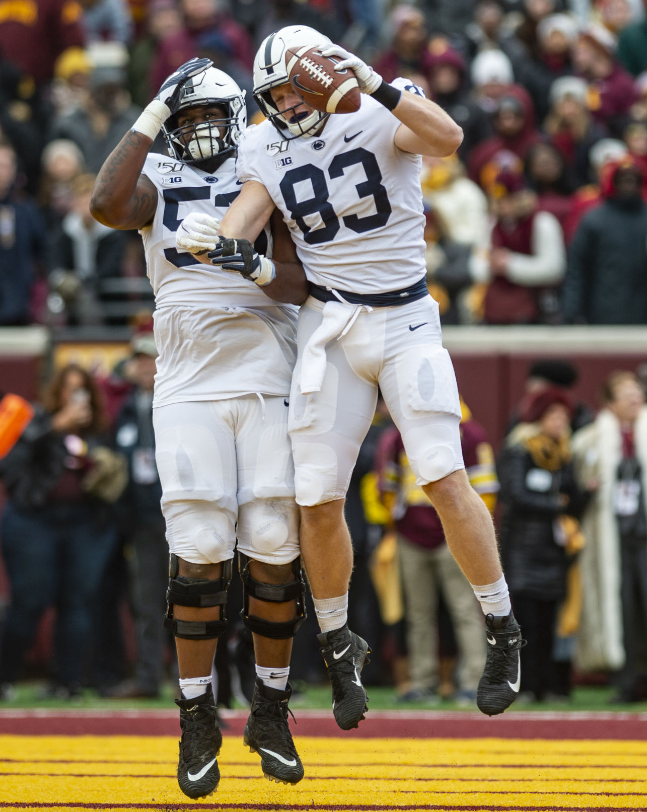
POLYGON ((496 716, 510 707, 521 685, 520 649, 526 641, 512 612, 505 617, 485 615, 488 647, 477 689, 479 711, 496 716))

